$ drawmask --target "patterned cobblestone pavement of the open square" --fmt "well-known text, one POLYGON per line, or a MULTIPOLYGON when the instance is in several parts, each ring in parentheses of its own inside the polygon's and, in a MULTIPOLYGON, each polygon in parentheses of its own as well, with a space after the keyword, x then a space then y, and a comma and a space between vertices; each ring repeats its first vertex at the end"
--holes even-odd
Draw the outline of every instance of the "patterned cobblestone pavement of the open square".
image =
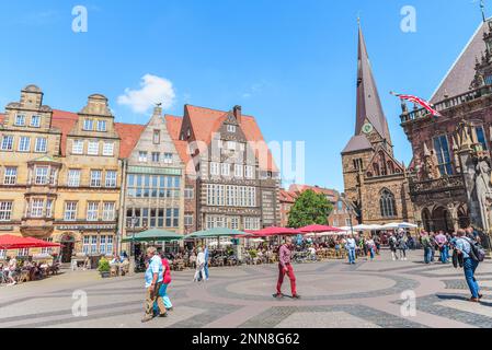
POLYGON ((356 266, 296 265, 299 301, 272 298, 276 266, 211 269, 210 281, 201 284, 192 282, 193 271, 175 272, 169 290, 174 311, 148 324, 140 323, 142 275, 103 280, 96 272, 67 272, 0 287, 0 327, 491 328, 492 261, 478 269, 484 298, 471 304, 462 270, 426 266, 422 255, 412 252, 408 261, 392 261, 384 252, 356 266), (88 314, 76 317, 79 292, 87 293, 88 314))

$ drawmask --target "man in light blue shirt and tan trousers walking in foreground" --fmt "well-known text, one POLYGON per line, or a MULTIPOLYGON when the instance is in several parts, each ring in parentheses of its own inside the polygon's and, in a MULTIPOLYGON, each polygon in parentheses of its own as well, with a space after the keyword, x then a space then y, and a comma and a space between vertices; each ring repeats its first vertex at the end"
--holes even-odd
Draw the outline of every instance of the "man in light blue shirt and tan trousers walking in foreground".
POLYGON ((146 315, 141 319, 142 323, 149 322, 153 318, 153 304, 157 302, 160 316, 167 317, 164 301, 159 294, 159 290, 163 280, 162 260, 157 254, 156 247, 147 248, 148 265, 145 275, 146 280, 146 315))

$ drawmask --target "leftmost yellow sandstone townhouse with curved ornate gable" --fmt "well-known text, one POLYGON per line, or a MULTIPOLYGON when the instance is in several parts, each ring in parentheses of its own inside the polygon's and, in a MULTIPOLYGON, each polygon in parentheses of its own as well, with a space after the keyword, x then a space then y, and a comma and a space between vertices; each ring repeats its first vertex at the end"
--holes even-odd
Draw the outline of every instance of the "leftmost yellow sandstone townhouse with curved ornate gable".
POLYGON ((0 120, 0 232, 50 238, 61 168, 61 131, 35 85, 0 120))

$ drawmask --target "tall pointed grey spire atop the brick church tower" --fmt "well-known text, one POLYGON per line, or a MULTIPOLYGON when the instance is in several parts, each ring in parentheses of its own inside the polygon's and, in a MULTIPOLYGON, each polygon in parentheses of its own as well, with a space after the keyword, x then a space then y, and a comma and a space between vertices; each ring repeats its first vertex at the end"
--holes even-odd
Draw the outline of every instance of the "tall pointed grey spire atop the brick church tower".
POLYGON ((357 116, 355 135, 363 132, 363 127, 368 120, 374 129, 388 143, 392 144, 389 133, 388 121, 382 112, 381 101, 373 75, 373 69, 369 63, 369 55, 367 54, 366 42, 358 22, 358 62, 357 62, 357 116))

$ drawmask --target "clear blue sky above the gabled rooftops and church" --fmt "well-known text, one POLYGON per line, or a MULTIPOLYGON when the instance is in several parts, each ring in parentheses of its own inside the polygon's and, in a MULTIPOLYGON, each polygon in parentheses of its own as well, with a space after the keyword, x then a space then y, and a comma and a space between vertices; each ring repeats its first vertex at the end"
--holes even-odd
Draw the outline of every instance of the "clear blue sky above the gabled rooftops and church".
POLYGON ((306 142, 306 183, 343 189, 340 152, 355 125, 358 13, 396 154, 408 164, 399 101, 388 92, 428 98, 480 24, 478 2, 2 1, 0 105, 35 83, 52 107, 78 112, 98 92, 118 121, 146 122, 145 106, 118 97, 140 90, 150 74, 172 102, 167 113, 182 115, 185 103, 242 105, 267 141, 306 142), (79 4, 88 9, 87 33, 71 30, 79 4), (404 5, 416 10, 416 33, 400 30, 404 5))

